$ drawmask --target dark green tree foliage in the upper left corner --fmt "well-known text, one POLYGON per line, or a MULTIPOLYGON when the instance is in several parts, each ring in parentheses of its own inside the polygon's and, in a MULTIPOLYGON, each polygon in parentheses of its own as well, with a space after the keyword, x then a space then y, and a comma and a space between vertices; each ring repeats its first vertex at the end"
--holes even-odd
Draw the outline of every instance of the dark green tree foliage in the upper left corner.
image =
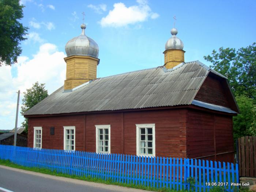
POLYGON ((23 18, 23 7, 19 0, 0 0, 0 66, 17 62, 22 52, 20 41, 29 29, 18 21, 23 18))

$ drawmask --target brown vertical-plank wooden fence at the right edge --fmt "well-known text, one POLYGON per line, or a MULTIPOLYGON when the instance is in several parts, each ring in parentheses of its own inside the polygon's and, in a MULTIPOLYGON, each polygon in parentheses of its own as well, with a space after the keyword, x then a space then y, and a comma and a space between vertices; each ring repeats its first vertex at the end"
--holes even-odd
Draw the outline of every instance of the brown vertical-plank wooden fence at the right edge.
POLYGON ((239 176, 256 177, 256 136, 238 138, 239 176))

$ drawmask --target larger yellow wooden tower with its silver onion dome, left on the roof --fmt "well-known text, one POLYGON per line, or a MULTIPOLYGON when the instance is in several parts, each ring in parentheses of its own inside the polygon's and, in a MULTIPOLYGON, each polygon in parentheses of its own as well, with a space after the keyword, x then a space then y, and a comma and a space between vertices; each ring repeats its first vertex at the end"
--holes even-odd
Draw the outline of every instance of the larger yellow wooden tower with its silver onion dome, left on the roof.
POLYGON ((65 46, 67 71, 64 90, 72 90, 97 78, 99 47, 93 39, 85 35, 85 24, 81 25, 81 29, 82 33, 69 40, 65 46))

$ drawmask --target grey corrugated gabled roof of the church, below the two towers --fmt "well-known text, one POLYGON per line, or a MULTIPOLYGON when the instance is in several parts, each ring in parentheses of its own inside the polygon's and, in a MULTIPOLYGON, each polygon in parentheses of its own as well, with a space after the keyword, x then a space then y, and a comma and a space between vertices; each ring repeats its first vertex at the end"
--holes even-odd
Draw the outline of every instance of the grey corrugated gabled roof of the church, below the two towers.
POLYGON ((98 78, 70 92, 62 86, 24 115, 190 105, 209 72, 226 79, 201 62, 192 61, 173 69, 161 66, 98 78))

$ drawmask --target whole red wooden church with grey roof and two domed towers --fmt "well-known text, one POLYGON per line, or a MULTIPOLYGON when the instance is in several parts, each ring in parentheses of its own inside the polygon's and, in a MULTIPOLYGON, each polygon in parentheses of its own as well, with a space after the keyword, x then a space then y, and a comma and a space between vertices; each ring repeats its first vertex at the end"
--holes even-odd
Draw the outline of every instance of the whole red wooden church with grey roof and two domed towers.
POLYGON ((24 113, 29 147, 233 161, 227 78, 185 63, 177 29, 163 66, 97 78, 99 48, 81 28, 65 46, 64 86, 24 113))

